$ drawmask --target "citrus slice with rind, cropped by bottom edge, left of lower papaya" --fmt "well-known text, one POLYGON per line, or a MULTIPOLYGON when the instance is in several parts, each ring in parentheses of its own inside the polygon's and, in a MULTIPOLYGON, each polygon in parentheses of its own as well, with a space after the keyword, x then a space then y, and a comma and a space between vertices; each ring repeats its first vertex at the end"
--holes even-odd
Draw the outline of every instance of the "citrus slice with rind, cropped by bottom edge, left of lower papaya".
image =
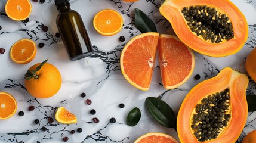
POLYGON ((178 141, 165 133, 146 133, 136 139, 134 143, 178 143, 178 141))

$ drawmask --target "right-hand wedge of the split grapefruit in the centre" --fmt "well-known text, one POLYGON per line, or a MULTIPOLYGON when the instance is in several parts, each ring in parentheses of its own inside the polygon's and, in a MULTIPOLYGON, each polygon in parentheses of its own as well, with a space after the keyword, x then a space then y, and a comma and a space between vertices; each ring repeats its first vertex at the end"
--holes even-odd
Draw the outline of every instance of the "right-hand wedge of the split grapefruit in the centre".
POLYGON ((185 83, 195 67, 193 51, 176 36, 160 35, 159 65, 164 88, 174 89, 185 83))

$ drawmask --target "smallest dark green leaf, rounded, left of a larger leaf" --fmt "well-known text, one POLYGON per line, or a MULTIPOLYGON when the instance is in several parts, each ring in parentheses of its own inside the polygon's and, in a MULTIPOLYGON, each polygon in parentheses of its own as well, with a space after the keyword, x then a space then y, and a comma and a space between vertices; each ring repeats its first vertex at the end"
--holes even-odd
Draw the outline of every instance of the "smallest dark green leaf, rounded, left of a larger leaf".
POLYGON ((127 116, 127 125, 135 126, 140 121, 141 113, 138 107, 132 109, 127 116))

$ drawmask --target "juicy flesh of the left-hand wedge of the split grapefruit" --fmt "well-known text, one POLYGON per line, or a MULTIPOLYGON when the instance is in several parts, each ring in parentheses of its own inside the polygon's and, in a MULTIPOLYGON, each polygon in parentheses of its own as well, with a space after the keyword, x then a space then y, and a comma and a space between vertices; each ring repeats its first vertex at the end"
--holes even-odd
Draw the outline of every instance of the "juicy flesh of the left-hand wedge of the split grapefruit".
POLYGON ((156 55, 153 46, 157 42, 158 36, 144 36, 133 41, 124 54, 125 74, 143 88, 149 87, 151 82, 156 55))

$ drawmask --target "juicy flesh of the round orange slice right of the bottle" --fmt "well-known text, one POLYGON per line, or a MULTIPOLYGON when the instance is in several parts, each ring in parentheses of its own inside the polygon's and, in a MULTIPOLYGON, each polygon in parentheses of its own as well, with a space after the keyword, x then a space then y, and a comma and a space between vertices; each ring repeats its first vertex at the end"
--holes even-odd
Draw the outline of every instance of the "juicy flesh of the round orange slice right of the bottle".
POLYGON ((120 29, 121 21, 121 15, 114 11, 102 11, 95 18, 95 26, 103 33, 113 33, 120 29))

